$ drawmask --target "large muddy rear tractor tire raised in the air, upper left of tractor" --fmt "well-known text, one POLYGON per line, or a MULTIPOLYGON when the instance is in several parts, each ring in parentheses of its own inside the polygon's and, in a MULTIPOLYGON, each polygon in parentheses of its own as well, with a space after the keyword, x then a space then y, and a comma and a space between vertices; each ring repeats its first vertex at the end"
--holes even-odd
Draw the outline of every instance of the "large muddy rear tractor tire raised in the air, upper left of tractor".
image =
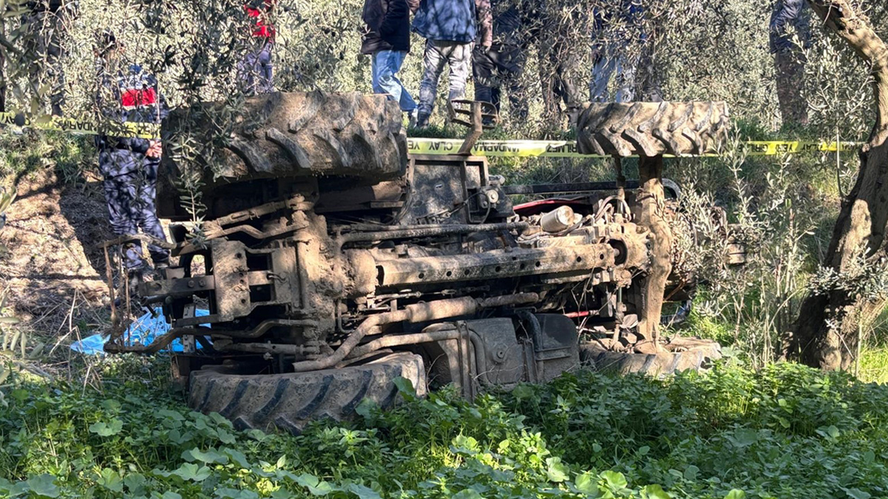
POLYGON ((188 137, 202 161, 177 164, 180 152, 168 149, 162 177, 169 178, 161 178, 158 198, 178 199, 183 174, 202 179, 205 194, 220 183, 261 178, 397 178, 408 161, 401 123, 396 102, 358 92, 274 92, 247 99, 236 114, 217 103, 181 109, 163 123, 170 135, 164 144, 188 137))

